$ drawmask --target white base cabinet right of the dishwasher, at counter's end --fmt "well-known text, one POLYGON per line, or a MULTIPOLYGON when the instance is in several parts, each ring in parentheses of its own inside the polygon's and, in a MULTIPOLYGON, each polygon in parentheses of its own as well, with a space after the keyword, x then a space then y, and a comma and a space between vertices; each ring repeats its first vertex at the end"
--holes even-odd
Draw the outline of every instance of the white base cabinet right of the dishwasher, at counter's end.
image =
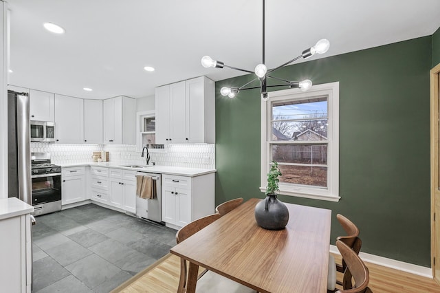
POLYGON ((196 177, 162 175, 162 221, 180 228, 214 213, 214 173, 196 177))

